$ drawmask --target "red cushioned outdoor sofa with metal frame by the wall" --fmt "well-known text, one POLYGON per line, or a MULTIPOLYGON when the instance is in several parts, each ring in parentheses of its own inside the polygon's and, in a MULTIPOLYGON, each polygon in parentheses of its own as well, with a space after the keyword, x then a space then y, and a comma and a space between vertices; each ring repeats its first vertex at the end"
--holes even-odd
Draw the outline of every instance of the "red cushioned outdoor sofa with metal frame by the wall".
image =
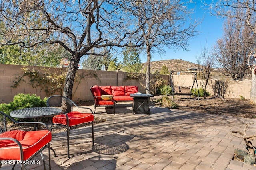
POLYGON ((116 102, 133 101, 130 94, 138 92, 138 86, 97 86, 90 88, 94 97, 94 113, 97 106, 113 107, 116 102))

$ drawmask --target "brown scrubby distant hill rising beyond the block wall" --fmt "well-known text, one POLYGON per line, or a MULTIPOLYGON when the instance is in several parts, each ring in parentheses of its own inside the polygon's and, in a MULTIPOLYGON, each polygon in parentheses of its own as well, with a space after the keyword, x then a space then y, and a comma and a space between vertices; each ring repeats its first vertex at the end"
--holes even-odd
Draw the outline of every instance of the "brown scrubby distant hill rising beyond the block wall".
MULTIPOLYGON (((142 63, 142 72, 144 72, 144 69, 146 67, 146 63, 142 63)), ((171 59, 171 60, 159 60, 159 61, 152 61, 150 64, 150 72, 154 73, 156 70, 159 72, 162 69, 162 66, 166 66, 170 71, 188 71, 189 68, 198 68, 198 64, 192 63, 189 61, 185 61, 182 59, 171 59)), ((231 77, 224 76, 221 72, 218 72, 217 70, 214 70, 212 72, 212 78, 218 79, 218 80, 232 80, 231 77)), ((252 72, 248 69, 246 71, 246 74, 244 76, 244 80, 251 80, 252 79, 252 72)))

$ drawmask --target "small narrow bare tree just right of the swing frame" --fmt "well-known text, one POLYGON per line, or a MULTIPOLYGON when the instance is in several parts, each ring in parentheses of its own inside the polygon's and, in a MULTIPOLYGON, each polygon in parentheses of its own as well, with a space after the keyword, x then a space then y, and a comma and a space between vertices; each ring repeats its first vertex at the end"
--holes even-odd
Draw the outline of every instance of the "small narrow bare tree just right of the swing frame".
POLYGON ((198 63, 198 68, 201 68, 199 72, 200 84, 204 91, 204 99, 206 99, 206 88, 208 82, 211 78, 212 67, 214 65, 214 58, 212 53, 208 50, 206 46, 201 48, 201 55, 196 56, 196 61, 198 63))

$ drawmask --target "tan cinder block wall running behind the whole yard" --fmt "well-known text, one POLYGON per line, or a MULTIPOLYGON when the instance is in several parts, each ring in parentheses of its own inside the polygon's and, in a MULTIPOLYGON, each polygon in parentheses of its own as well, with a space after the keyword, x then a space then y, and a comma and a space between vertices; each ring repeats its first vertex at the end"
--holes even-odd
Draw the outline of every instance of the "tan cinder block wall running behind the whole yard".
MULTIPOLYGON (((57 75, 61 74, 62 70, 66 68, 48 68, 48 67, 35 67, 35 66, 26 66, 29 69, 35 69, 39 72, 44 72, 48 70, 49 72, 54 72, 57 75)), ((22 70, 24 66, 20 65, 10 65, 10 64, 0 64, 0 103, 9 103, 13 100, 13 97, 18 93, 25 94, 36 94, 42 99, 48 97, 44 92, 44 89, 41 90, 41 87, 34 88, 28 84, 28 78, 25 78, 26 82, 20 82, 18 88, 12 88, 16 77, 22 76, 24 71, 22 70)), ((100 71, 100 70, 82 70, 79 69, 76 73, 76 78, 83 77, 80 82, 74 82, 73 87, 73 96, 72 100, 93 100, 92 94, 90 92, 90 87, 95 84, 98 86, 130 86, 135 85, 139 87, 139 92, 145 93, 145 89, 141 84, 145 86, 146 84, 146 74, 142 74, 142 79, 140 82, 137 80, 125 80, 125 75, 127 73, 122 71, 100 71)), ((169 81, 168 75, 161 75, 161 77, 166 80, 166 84, 169 81)), ((174 85, 179 86, 192 86, 193 85, 193 75, 174 75, 172 76, 174 85)), ((246 99, 250 98, 250 87, 251 81, 224 81, 226 84, 225 88, 225 97, 230 98, 240 98, 240 96, 245 97, 246 99)), ((219 82, 218 82, 219 83, 219 82)), ((216 80, 211 80, 208 85, 208 91, 214 95, 216 92, 216 80), (214 90, 215 89, 215 90, 214 90)), ((196 86, 194 86, 196 87, 196 86)), ((200 88, 200 81, 198 80, 198 87, 200 88)))

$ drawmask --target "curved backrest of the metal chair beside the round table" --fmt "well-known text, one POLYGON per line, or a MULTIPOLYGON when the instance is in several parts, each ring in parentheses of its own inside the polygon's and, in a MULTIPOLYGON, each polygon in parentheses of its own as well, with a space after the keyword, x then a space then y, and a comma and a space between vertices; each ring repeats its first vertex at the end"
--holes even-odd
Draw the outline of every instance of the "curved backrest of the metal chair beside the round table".
POLYGON ((61 108, 62 111, 65 113, 73 111, 73 106, 76 106, 76 104, 72 100, 60 95, 50 96, 47 99, 46 104, 47 107, 61 108))

